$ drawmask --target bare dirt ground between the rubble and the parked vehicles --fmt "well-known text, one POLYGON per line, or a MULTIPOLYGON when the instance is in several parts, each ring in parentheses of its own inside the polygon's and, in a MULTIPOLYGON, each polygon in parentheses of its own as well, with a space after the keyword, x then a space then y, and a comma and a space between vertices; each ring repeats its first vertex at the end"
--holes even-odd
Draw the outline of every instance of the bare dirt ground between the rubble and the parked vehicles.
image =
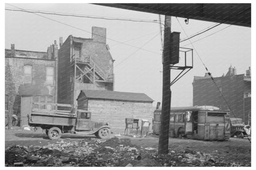
MULTIPOLYGON (((111 134, 111 137, 113 137, 113 134, 111 134)), ((159 136, 156 135, 149 135, 148 137, 119 136, 118 138, 129 138, 132 144, 158 149, 158 137, 159 136)), ((63 134, 61 139, 51 141, 42 130, 28 131, 23 129, 6 129, 5 148, 7 149, 13 145, 44 146, 55 144, 58 141, 81 141, 84 138, 95 138, 95 136, 63 134)), ((223 158, 223 160, 228 163, 242 163, 249 166, 251 164, 251 144, 248 139, 231 137, 229 141, 199 141, 192 139, 169 138, 169 149, 174 152, 181 152, 184 150, 204 152, 223 158)))

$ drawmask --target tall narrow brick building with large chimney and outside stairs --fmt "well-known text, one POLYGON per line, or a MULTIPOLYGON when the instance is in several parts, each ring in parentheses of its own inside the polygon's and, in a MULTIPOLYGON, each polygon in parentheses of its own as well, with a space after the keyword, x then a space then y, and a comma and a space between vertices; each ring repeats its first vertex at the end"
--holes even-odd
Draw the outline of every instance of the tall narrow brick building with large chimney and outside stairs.
POLYGON ((81 90, 113 90, 113 58, 106 28, 92 27, 92 38, 68 36, 58 50, 58 102, 76 104, 81 90))

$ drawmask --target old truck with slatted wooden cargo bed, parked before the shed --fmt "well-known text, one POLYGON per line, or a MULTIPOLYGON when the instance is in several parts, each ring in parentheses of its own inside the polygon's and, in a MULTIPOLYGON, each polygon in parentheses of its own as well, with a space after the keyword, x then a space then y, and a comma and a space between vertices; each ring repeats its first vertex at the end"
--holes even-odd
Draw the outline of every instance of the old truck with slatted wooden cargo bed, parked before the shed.
POLYGON ((59 139, 62 133, 94 134, 98 138, 108 138, 111 133, 108 123, 94 122, 91 115, 88 110, 77 109, 70 104, 47 103, 43 108, 31 108, 28 125, 44 129, 50 139, 59 139))

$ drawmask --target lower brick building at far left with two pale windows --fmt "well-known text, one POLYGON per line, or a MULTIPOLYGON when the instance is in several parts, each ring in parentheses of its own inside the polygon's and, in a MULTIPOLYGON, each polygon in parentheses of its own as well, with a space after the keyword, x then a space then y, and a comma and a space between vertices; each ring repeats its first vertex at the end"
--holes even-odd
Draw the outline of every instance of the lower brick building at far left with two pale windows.
POLYGON ((5 50, 7 122, 10 122, 12 114, 16 114, 20 125, 25 125, 28 112, 22 112, 22 96, 49 96, 50 101, 55 101, 55 58, 56 42, 50 45, 47 52, 15 50, 14 44, 11 45, 11 49, 5 50))

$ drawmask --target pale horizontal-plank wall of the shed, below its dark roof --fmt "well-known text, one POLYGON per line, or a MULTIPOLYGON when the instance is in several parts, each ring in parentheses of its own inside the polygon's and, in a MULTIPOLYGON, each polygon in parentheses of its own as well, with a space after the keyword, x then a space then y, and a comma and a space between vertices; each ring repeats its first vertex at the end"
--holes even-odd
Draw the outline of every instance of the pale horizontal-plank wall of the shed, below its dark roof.
POLYGON ((108 122, 114 133, 124 133, 125 118, 140 119, 139 126, 141 120, 146 119, 152 126, 154 109, 151 102, 88 99, 88 110, 92 112, 92 120, 108 122))

